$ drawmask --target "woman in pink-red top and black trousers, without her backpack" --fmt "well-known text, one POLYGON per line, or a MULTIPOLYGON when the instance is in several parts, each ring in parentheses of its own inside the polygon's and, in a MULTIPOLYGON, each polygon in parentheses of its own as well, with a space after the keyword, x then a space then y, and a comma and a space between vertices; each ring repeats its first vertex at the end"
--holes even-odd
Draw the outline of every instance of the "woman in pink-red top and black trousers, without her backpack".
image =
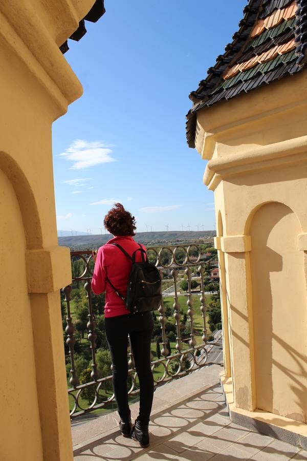
MULTIPOLYGON (((113 389, 120 416, 120 430, 124 437, 131 435, 141 447, 145 448, 149 445, 148 423, 153 398, 153 377, 150 367, 153 320, 151 312, 130 313, 125 302, 116 293, 117 290, 119 294, 126 294, 131 260, 120 248, 112 245, 112 243, 120 245, 130 256, 136 249, 140 249, 140 245, 133 239, 136 222, 134 216, 131 216, 123 205, 115 203, 103 223, 114 238, 101 246, 97 255, 93 253, 95 268, 92 289, 96 295, 106 292, 105 334, 112 358, 113 389), (131 425, 127 395, 128 334, 140 383, 140 412, 134 427, 131 425)), ((142 248, 145 250, 144 246, 142 248)), ((136 254, 137 262, 142 260, 141 253, 139 251, 136 254)))

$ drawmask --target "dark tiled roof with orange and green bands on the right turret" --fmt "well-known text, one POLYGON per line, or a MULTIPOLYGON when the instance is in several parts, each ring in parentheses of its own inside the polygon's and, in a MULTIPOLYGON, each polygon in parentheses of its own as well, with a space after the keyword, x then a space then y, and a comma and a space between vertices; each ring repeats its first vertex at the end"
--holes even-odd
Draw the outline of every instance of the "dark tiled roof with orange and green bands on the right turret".
POLYGON ((243 12, 233 42, 189 95, 193 107, 186 128, 191 148, 195 146, 196 112, 304 68, 307 0, 250 0, 243 12))

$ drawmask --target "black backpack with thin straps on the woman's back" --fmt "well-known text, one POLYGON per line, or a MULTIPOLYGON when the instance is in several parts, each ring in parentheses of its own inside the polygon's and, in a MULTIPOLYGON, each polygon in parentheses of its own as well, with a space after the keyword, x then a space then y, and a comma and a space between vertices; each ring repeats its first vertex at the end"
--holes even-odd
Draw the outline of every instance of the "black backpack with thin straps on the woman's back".
POLYGON ((132 261, 126 297, 115 288, 108 278, 106 280, 123 300, 130 312, 137 313, 157 310, 162 301, 161 275, 157 267, 149 263, 145 250, 139 244, 140 248, 137 248, 133 255, 130 256, 118 243, 111 243, 111 245, 117 246, 132 261), (141 252, 142 254, 141 262, 136 262, 137 252, 141 252))

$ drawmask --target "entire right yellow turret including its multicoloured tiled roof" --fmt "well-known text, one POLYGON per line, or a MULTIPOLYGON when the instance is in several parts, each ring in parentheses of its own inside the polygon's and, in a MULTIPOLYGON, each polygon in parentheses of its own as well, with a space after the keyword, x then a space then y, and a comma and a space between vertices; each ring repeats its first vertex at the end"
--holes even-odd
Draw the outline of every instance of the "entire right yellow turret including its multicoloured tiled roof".
POLYGON ((214 191, 232 420, 307 446, 307 2, 251 0, 190 94, 214 191))

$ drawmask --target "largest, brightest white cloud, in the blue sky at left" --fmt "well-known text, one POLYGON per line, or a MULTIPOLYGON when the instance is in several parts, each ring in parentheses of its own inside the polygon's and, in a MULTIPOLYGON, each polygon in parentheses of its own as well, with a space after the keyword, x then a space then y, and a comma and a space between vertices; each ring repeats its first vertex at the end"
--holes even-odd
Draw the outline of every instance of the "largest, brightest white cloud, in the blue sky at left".
POLYGON ((84 170, 100 163, 115 162, 111 157, 111 145, 103 144, 101 141, 84 141, 76 139, 65 152, 59 154, 60 157, 73 162, 70 170, 84 170))

